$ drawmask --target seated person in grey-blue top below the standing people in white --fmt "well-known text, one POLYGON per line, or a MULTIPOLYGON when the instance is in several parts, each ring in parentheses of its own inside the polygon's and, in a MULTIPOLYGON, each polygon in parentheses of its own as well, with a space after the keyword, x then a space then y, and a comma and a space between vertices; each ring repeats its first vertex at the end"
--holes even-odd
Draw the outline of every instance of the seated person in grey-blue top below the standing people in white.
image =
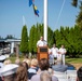
POLYGON ((62 59, 57 59, 55 62, 55 65, 52 66, 52 69, 55 71, 65 72, 67 70, 68 66, 62 64, 62 59))

